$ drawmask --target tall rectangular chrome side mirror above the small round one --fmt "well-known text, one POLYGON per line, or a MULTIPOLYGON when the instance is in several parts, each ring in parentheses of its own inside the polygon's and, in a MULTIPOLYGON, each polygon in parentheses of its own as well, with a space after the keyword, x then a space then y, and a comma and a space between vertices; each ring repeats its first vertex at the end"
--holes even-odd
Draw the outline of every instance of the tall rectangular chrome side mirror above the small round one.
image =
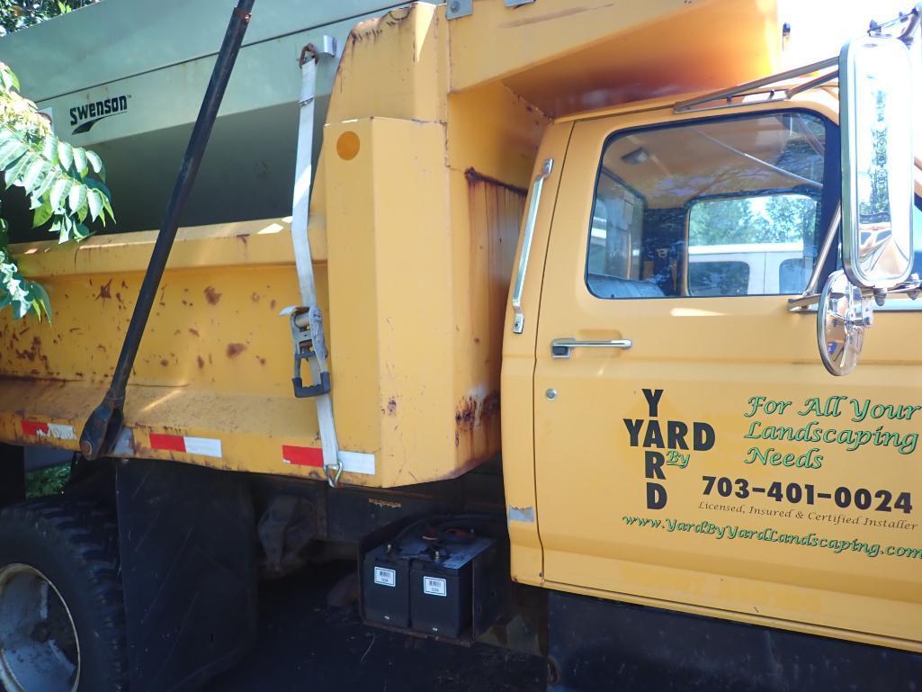
POLYGON ((912 268, 912 79, 898 39, 856 39, 839 56, 842 259, 865 289, 891 289, 912 268))

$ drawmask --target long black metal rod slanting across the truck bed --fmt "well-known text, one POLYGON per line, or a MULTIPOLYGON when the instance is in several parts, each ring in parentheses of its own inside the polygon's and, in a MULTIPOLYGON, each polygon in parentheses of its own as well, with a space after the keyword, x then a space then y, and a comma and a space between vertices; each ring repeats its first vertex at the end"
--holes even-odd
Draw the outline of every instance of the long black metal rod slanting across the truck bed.
POLYGON ((224 42, 221 43, 218 59, 215 62, 214 71, 211 73, 211 80, 208 82, 202 106, 198 111, 198 117, 195 119, 192 136, 189 137, 183 165, 176 176, 170 203, 167 205, 166 214, 160 226, 160 233, 150 256, 148 270, 144 275, 141 290, 137 295, 135 311, 132 313, 131 323, 124 336, 122 352, 119 354, 118 363, 115 365, 112 382, 102 403, 90 414, 87 423, 84 425, 83 433, 80 435, 80 450, 88 459, 97 459, 104 455, 112 446, 112 442, 121 428, 123 420, 122 407, 124 406, 128 378, 131 376, 137 351, 141 345, 144 330, 148 325, 150 308, 157 297, 157 289, 160 287, 160 280, 163 278, 163 270, 166 268, 167 260, 170 258, 180 216, 183 213, 189 193, 192 191, 192 186, 195 184, 195 176, 202 162, 202 155, 205 153, 208 138, 211 137, 211 129, 218 116, 218 109, 224 98, 224 91, 227 89, 228 81, 231 78, 237 54, 240 53, 243 35, 246 33, 247 25, 250 22, 250 12, 253 9, 253 4, 254 0, 238 0, 237 6, 231 15, 231 22, 228 24, 227 32, 224 34, 224 42))

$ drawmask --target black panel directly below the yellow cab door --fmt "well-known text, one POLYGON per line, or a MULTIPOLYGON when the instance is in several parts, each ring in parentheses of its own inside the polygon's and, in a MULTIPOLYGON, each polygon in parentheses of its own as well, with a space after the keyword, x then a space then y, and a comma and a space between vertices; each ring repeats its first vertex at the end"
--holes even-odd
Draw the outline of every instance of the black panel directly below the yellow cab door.
POLYGON ((782 629, 549 594, 549 692, 909 689, 922 655, 782 629))

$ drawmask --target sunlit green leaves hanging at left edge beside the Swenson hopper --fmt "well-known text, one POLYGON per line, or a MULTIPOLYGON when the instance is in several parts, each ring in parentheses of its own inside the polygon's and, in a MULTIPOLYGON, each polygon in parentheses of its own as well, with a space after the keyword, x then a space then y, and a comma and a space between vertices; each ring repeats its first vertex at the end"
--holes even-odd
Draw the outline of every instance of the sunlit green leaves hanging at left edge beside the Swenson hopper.
MULTIPOLYGON (((55 137, 48 120, 18 89, 16 75, 0 63, 0 171, 6 189, 22 190, 33 228, 55 233, 59 243, 83 240, 94 223, 114 221, 102 161, 55 137)), ((10 307, 17 319, 30 312, 50 319, 48 293, 19 272, 8 230, 0 209, 0 309, 10 307)))

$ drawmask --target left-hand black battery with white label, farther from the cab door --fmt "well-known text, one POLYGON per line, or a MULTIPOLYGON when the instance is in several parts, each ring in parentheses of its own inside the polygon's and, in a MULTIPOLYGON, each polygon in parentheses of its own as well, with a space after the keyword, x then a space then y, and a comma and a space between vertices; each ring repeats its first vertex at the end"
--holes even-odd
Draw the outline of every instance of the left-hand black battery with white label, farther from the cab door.
POLYGON ((409 560, 391 546, 381 545, 365 555, 362 596, 367 620, 409 626, 409 571, 409 560))

